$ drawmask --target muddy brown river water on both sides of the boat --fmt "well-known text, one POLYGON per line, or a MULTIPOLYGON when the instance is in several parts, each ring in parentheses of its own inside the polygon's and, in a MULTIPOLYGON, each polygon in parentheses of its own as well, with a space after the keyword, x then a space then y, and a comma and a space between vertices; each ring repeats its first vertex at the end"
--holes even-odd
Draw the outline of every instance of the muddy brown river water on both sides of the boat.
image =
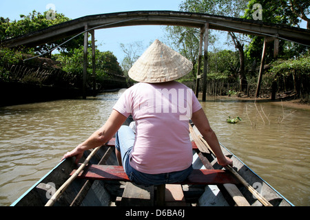
MULTIPOLYGON (((0 206, 10 206, 96 131, 117 99, 111 92, 0 107, 0 206)), ((231 98, 208 97, 201 104, 221 144, 293 205, 310 205, 309 110, 231 98), (228 116, 242 121, 229 124, 228 116)))

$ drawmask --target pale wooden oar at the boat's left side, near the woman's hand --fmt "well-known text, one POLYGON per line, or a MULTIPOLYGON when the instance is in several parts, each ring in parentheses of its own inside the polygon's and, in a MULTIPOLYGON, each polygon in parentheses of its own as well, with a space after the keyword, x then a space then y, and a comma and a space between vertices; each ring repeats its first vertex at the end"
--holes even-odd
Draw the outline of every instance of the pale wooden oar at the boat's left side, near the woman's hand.
POLYGON ((54 195, 52 195, 52 197, 50 198, 50 200, 48 200, 48 202, 45 204, 45 206, 53 206, 54 205, 54 203, 57 201, 57 199, 59 199, 59 197, 63 194, 65 189, 68 188, 68 186, 72 183, 72 181, 79 175, 79 173, 81 173, 83 168, 85 168, 85 166, 88 164, 88 162, 90 162, 90 159, 92 158, 92 156, 94 156, 96 154, 96 152, 99 150, 99 148, 101 148, 101 146, 94 148, 94 150, 90 153, 90 155, 88 155, 88 157, 85 159, 83 164, 81 164, 81 166, 75 171, 75 173, 69 179, 67 179, 67 181, 65 181, 65 183, 54 193, 54 195))

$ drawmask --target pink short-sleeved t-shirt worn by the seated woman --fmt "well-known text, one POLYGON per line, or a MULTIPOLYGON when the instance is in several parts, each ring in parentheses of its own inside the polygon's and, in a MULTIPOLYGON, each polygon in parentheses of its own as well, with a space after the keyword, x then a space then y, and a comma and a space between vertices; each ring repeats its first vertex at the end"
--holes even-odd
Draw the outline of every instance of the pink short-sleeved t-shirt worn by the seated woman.
POLYGON ((149 174, 169 173, 192 164, 189 119, 201 108, 192 89, 181 83, 137 83, 113 109, 136 121, 130 165, 149 174))

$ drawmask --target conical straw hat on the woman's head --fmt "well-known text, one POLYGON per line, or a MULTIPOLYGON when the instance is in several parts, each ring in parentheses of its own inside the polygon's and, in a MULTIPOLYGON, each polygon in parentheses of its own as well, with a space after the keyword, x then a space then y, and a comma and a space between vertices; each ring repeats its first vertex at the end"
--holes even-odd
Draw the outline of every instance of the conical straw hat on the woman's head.
POLYGON ((193 64, 161 41, 154 41, 132 65, 128 75, 144 83, 163 83, 185 76, 193 64))

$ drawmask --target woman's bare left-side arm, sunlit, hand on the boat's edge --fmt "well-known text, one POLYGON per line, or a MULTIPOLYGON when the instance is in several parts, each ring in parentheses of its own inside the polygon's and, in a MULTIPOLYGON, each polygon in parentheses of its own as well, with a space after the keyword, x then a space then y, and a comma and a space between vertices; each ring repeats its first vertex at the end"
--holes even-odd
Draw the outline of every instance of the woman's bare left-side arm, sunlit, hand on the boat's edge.
POLYGON ((95 131, 92 135, 90 135, 90 137, 87 138, 87 140, 76 146, 76 148, 72 151, 63 155, 61 160, 67 157, 76 156, 75 162, 77 164, 79 159, 83 156, 84 151, 105 144, 113 137, 126 119, 127 118, 124 115, 113 109, 110 117, 107 119, 107 122, 105 122, 105 124, 98 131, 95 131))

